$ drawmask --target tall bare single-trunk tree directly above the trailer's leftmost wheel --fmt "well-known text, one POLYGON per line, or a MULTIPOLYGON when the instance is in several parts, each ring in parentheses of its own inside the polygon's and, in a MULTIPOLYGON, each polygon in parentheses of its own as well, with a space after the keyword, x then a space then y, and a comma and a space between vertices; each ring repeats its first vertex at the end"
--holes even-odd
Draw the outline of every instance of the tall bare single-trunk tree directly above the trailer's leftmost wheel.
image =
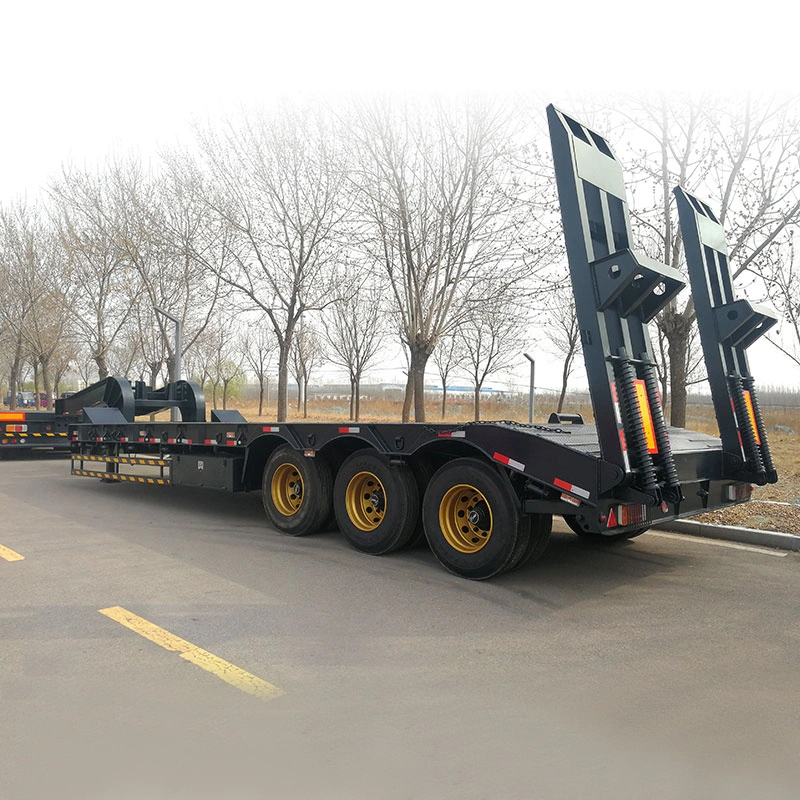
POLYGON ((303 315, 336 297, 344 172, 319 108, 284 103, 240 127, 199 133, 214 181, 207 195, 234 235, 225 264, 207 267, 268 317, 278 342, 279 421, 286 419, 289 354, 303 315))

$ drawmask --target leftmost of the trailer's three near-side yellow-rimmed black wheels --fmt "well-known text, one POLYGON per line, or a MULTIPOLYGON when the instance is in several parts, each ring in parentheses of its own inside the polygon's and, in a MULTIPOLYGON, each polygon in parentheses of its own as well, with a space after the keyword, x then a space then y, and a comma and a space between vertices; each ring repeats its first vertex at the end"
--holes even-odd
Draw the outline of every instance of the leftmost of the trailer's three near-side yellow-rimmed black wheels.
POLYGON ((309 458, 281 445, 264 467, 264 510, 275 528, 289 536, 322 529, 330 513, 332 491, 330 464, 319 454, 309 458))

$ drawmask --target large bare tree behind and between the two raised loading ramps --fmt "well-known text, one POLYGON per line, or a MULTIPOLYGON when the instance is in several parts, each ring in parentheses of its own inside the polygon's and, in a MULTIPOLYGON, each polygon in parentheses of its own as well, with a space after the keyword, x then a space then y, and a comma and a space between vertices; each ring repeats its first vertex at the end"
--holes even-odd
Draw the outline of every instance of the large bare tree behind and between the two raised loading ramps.
MULTIPOLYGON (((682 265, 672 201, 680 184, 709 201, 729 243, 736 279, 769 271, 772 253, 800 222, 800 106, 794 100, 750 97, 628 98, 624 131, 636 139, 631 182, 636 233, 650 254, 682 265), (658 186, 655 194, 644 186, 658 186)), ((619 137, 618 137, 619 138, 619 137)), ((676 298, 657 324, 667 341, 673 425, 686 424, 688 350, 694 306, 676 298)))

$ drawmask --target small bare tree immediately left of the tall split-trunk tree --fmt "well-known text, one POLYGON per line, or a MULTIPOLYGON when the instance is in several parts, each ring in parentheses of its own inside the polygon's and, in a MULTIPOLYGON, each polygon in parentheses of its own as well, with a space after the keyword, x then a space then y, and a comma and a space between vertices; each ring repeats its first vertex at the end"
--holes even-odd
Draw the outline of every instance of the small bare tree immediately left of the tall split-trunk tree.
POLYGON ((377 287, 361 287, 330 308, 325 326, 327 355, 332 364, 347 370, 351 420, 361 418, 361 381, 380 350, 384 332, 377 287))

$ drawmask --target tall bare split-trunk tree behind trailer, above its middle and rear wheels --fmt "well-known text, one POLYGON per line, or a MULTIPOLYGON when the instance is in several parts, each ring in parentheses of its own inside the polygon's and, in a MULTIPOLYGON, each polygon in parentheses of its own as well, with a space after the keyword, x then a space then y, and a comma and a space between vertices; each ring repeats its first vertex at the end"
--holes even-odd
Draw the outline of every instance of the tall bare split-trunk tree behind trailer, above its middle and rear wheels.
POLYGON ((512 248, 516 198, 509 117, 478 100, 358 105, 354 184, 365 248, 390 284, 409 373, 403 404, 425 420, 425 367, 470 303, 522 277, 512 248))

